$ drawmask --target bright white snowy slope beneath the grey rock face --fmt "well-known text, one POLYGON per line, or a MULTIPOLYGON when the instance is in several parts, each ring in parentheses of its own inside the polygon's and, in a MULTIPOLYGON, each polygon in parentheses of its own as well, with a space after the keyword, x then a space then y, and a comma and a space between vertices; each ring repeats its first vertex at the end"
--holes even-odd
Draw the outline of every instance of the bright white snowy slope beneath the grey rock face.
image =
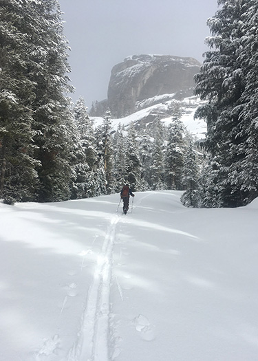
MULTIPOLYGON (((193 134, 197 139, 205 138, 206 135, 206 122, 204 120, 198 119, 194 120, 193 116, 197 107, 202 104, 200 98, 192 96, 190 98, 184 98, 184 100, 178 102, 173 99, 173 94, 164 94, 164 96, 157 96, 151 99, 148 99, 148 107, 140 109, 135 113, 127 116, 125 118, 113 119, 112 127, 114 130, 117 129, 118 124, 128 127, 131 122, 138 125, 139 127, 145 127, 151 124, 155 118, 159 118, 164 124, 168 125, 172 116, 169 116, 171 113, 171 108, 177 102, 182 108, 182 122, 186 129, 193 134)), ((146 101, 146 102, 147 102, 146 101)), ((144 106, 146 106, 146 102, 144 106)), ((138 106, 140 108, 140 104, 138 106)), ((103 122, 101 117, 90 117, 94 120, 94 124, 97 127, 103 122)))

